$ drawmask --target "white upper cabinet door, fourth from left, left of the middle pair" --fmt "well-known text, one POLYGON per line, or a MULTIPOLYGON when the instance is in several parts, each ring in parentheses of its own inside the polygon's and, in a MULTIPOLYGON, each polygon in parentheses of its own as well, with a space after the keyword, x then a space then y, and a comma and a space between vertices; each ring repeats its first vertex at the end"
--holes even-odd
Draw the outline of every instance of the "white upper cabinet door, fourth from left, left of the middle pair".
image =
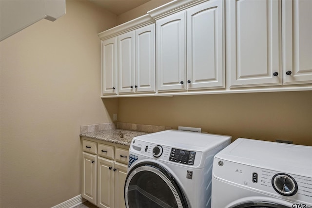
POLYGON ((157 90, 186 90, 185 11, 156 21, 157 90))

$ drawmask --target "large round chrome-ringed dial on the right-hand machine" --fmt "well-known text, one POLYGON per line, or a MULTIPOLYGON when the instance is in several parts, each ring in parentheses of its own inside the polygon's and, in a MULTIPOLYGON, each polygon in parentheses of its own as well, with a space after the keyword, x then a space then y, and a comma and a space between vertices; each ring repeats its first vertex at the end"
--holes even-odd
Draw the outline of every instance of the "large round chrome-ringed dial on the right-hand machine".
POLYGON ((293 196, 298 190, 297 182, 286 173, 277 173, 272 178, 272 186, 283 196, 293 196))

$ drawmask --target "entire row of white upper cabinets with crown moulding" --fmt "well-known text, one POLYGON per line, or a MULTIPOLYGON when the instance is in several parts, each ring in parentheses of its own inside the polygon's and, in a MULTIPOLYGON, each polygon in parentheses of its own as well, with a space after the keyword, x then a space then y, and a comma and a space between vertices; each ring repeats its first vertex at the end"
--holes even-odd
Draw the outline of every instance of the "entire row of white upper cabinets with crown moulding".
POLYGON ((312 90, 312 0, 173 0, 147 13, 98 34, 117 38, 102 97, 312 90))

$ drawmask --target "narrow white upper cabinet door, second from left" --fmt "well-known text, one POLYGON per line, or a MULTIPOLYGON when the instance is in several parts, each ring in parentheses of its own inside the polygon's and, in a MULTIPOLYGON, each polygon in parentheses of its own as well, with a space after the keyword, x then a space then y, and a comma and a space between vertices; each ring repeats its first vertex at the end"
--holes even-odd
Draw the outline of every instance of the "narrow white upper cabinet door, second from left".
POLYGON ((118 36, 119 93, 135 90, 135 31, 118 36))

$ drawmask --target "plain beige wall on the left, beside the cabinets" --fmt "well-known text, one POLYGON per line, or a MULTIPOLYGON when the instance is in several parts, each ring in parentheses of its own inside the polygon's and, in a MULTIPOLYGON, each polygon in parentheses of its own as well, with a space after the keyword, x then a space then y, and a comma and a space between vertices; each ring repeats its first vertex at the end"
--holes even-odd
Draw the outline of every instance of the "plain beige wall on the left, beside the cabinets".
POLYGON ((67 0, 66 13, 0 42, 1 208, 50 208, 81 194, 80 126, 117 112, 117 99, 99 97, 97 36, 117 17, 82 0, 67 0))

